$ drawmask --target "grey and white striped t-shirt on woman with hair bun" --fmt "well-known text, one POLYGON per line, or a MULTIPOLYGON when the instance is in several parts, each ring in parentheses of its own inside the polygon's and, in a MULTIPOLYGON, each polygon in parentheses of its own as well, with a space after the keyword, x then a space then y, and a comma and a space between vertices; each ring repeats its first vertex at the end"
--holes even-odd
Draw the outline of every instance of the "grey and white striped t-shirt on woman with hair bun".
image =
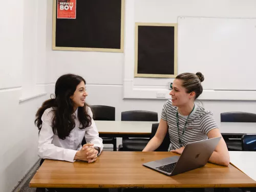
MULTIPOLYGON (((181 138, 187 116, 179 114, 179 136, 176 121, 177 106, 172 105, 172 100, 167 100, 163 106, 161 118, 167 121, 170 145, 168 151, 180 148, 179 136, 181 138)), ((194 111, 189 115, 186 129, 181 140, 181 145, 208 139, 210 130, 218 128, 212 113, 195 104, 194 111)))

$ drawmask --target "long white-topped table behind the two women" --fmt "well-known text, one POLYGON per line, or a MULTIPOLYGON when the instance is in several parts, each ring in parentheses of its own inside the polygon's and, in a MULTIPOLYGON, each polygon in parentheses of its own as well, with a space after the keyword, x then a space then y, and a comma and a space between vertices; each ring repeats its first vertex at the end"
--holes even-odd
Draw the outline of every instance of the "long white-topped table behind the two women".
MULTIPOLYGON (((104 137, 150 137, 151 121, 95 121, 99 134, 104 137)), ((221 122, 222 135, 256 133, 256 123, 221 122)))

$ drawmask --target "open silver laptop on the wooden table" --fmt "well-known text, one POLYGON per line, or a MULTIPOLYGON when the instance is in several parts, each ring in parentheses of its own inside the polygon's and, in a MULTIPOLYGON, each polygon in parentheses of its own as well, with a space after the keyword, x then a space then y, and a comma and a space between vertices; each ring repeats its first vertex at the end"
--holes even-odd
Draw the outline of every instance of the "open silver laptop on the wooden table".
POLYGON ((204 166, 214 152, 221 137, 188 143, 181 156, 172 156, 164 159, 144 163, 143 165, 157 170, 168 176, 187 172, 204 166))

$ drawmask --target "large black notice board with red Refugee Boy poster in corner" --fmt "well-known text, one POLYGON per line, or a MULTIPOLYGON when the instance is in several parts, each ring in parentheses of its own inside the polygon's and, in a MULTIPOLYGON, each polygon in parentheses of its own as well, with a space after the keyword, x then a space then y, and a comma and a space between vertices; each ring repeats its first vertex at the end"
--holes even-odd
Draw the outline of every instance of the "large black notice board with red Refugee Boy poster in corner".
POLYGON ((124 0, 76 0, 75 19, 57 18, 54 1, 53 49, 122 52, 124 0))

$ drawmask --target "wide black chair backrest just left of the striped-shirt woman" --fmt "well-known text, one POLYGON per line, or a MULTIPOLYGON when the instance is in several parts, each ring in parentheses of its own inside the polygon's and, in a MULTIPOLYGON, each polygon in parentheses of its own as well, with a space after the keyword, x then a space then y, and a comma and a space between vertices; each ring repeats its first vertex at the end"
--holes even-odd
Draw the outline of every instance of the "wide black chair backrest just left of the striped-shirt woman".
POLYGON ((121 121, 158 121, 158 115, 152 111, 125 111, 121 113, 121 121))

